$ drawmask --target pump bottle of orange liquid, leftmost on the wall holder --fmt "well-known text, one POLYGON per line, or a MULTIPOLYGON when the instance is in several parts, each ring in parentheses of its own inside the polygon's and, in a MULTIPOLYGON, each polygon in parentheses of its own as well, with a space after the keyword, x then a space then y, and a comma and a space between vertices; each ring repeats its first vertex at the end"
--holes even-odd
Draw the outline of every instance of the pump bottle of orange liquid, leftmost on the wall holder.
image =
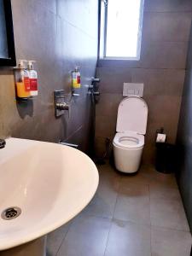
POLYGON ((30 97, 30 80, 25 62, 24 60, 19 60, 18 67, 15 67, 16 96, 19 100, 30 97))

